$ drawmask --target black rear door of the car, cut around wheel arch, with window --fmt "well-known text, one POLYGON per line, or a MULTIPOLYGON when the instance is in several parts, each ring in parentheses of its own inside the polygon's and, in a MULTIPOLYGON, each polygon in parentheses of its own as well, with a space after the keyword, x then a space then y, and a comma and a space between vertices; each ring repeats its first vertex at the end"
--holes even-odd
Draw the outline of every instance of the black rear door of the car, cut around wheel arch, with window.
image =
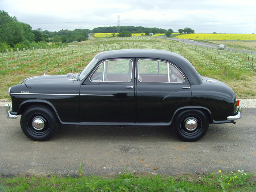
POLYGON ((174 64, 136 59, 136 123, 167 123, 176 105, 191 98, 189 81, 174 64))

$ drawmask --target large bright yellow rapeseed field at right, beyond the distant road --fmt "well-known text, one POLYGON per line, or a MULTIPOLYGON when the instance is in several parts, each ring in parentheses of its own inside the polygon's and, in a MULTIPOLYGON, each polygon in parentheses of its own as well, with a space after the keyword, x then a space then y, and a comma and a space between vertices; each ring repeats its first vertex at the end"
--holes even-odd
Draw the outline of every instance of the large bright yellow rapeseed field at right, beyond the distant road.
POLYGON ((216 40, 256 40, 256 34, 208 34, 208 33, 194 33, 178 35, 181 39, 216 39, 216 40), (197 38, 198 36, 198 38, 197 38))

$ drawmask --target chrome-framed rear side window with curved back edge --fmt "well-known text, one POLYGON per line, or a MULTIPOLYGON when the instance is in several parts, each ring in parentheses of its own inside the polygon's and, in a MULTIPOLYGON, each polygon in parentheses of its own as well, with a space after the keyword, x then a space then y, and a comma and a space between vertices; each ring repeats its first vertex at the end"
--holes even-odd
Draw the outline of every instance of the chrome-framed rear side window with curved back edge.
POLYGON ((174 65, 158 60, 140 59, 138 61, 140 82, 184 82, 185 77, 174 65))

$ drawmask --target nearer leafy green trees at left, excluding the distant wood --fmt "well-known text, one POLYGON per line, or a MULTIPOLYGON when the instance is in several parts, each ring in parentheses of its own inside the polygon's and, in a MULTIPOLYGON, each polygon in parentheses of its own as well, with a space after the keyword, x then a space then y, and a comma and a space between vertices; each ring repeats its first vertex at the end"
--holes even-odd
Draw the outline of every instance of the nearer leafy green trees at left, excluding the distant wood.
POLYGON ((50 32, 42 29, 32 30, 29 24, 19 22, 11 17, 8 12, 0 10, 0 50, 10 48, 46 48, 46 43, 52 41, 55 46, 73 41, 88 39, 89 29, 75 29, 73 31, 60 30, 50 32))

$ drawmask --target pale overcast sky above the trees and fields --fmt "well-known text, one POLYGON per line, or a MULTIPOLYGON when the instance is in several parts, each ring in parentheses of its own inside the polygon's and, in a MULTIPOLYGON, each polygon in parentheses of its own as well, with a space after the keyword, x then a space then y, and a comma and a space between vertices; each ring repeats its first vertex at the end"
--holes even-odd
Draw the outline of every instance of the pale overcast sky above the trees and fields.
MULTIPOLYGON (((120 26, 195 33, 255 32, 256 0, 0 0, 0 10, 33 29, 94 29, 120 26)), ((113 31, 115 32, 115 31, 113 31)))

